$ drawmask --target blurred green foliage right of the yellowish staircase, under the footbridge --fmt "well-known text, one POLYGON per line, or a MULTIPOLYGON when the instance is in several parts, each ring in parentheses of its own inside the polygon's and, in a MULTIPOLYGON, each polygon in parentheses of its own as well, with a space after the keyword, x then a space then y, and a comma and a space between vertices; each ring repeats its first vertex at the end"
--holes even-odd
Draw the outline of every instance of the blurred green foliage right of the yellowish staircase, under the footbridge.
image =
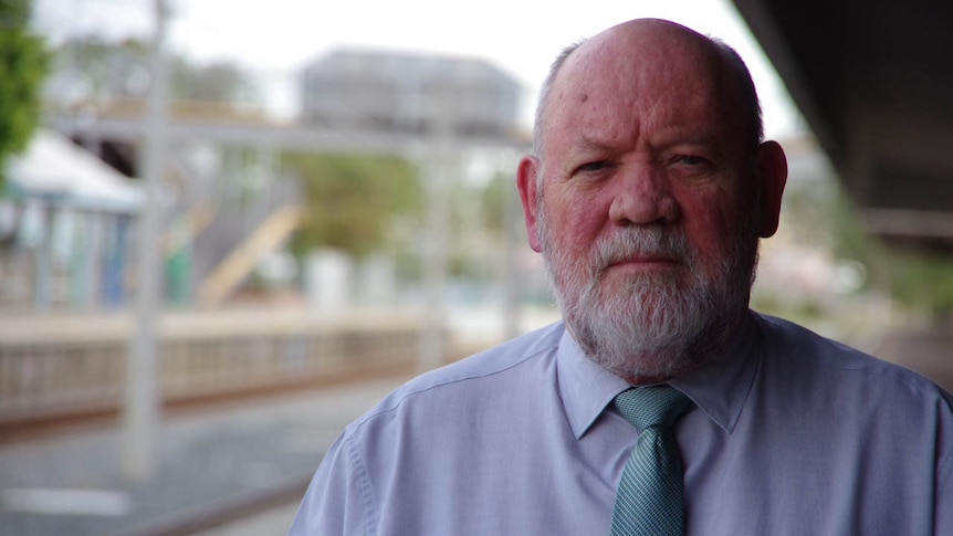
POLYGON ((324 246, 364 256, 397 238, 400 218, 418 217, 423 206, 417 169, 397 157, 290 154, 283 167, 305 186, 299 254, 324 246))

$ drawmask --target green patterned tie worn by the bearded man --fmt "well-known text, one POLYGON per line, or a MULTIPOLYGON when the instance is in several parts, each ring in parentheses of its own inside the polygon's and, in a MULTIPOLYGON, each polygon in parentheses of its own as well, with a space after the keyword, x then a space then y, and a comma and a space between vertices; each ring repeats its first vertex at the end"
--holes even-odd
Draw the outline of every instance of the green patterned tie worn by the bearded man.
POLYGON ((619 482, 611 536, 681 536, 682 464, 671 427, 692 401, 674 388, 656 386, 624 391, 615 402, 639 431, 639 441, 619 482))

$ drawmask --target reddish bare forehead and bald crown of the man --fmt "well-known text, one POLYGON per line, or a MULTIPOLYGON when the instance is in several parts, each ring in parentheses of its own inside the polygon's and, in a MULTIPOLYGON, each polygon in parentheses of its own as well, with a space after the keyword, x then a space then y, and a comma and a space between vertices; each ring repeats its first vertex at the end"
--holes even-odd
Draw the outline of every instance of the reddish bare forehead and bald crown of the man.
POLYGON ((588 138, 628 136, 633 127, 726 135, 735 99, 725 81, 706 38, 669 27, 610 30, 566 60, 547 103, 548 129, 588 138))

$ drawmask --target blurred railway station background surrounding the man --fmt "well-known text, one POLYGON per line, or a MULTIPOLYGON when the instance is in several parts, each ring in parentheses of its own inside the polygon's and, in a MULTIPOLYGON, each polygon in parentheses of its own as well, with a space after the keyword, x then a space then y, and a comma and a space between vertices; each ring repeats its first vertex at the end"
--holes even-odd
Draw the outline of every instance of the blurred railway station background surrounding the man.
POLYGON ((349 420, 555 320, 516 162, 637 17, 787 151, 754 308, 953 387, 950 8, 548 3, 0 0, 0 533, 283 534, 349 420))

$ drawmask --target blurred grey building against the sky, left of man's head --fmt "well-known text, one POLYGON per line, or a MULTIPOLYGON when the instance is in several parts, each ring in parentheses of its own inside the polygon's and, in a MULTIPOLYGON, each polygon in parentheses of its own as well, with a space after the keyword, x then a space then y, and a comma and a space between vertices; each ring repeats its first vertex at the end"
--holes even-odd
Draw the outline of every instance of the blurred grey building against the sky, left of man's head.
POLYGON ((486 61, 337 50, 304 70, 301 119, 355 130, 511 137, 521 86, 486 61))

